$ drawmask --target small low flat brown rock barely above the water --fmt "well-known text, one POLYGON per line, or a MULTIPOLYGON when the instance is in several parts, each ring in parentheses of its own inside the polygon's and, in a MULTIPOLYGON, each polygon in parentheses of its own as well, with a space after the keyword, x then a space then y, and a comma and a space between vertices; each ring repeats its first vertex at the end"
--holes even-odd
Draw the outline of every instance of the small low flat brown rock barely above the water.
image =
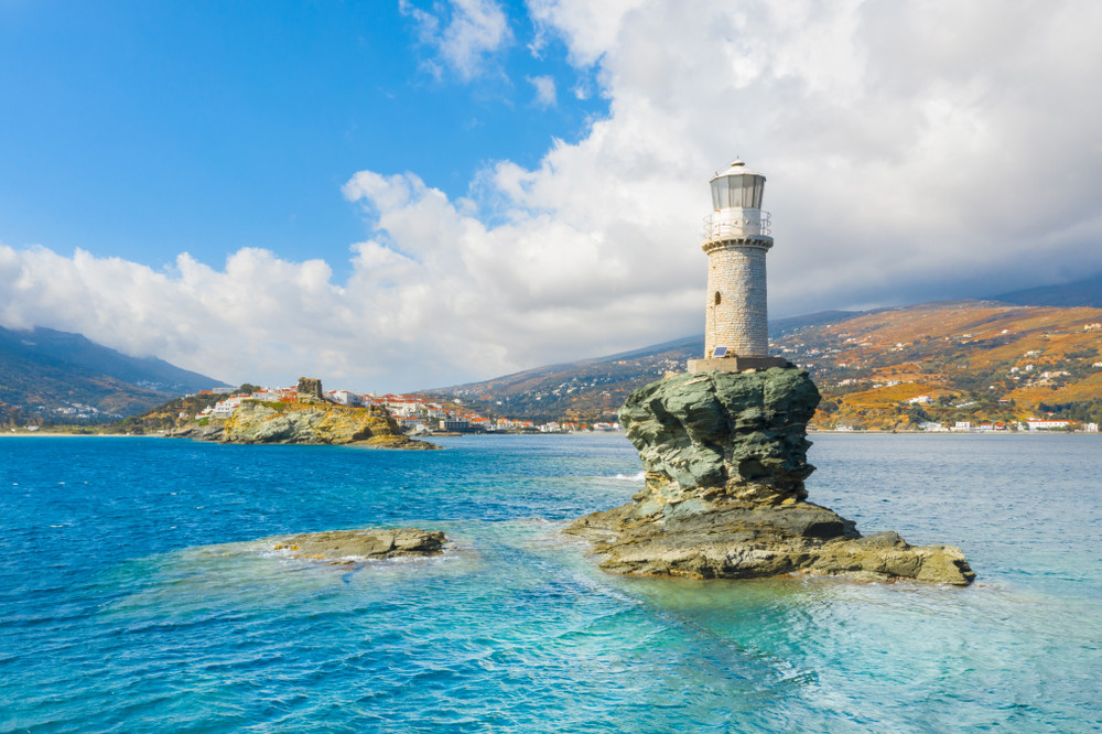
POLYGON ((266 538, 262 544, 292 558, 350 564, 408 555, 439 555, 447 538, 439 530, 328 530, 266 538))

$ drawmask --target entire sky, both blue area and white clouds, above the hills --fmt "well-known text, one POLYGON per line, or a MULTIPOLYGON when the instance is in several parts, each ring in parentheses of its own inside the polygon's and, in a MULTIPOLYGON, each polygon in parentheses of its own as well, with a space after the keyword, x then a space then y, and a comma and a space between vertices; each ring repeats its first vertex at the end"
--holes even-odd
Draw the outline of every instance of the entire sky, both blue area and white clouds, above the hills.
POLYGON ((0 0, 0 325, 415 390, 1102 270, 1095 0, 0 0))

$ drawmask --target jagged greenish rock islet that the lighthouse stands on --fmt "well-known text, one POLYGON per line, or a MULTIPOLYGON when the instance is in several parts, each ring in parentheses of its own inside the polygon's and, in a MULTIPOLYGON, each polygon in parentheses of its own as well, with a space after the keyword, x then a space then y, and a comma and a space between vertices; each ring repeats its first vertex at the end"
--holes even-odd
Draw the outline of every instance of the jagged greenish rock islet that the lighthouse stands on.
POLYGON ((631 501, 566 532, 594 543, 608 571, 702 579, 784 573, 916 579, 966 585, 959 549, 916 547, 806 501, 807 423, 819 391, 807 373, 676 375, 620 409, 646 485, 631 501))

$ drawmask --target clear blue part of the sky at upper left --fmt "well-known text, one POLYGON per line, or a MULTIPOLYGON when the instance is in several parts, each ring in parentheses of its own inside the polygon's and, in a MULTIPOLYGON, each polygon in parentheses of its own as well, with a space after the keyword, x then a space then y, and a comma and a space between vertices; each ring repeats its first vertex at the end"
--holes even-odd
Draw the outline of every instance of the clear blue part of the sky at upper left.
MULTIPOLYGON (((539 58, 523 6, 477 78, 442 68, 397 2, 0 3, 0 237, 161 267, 240 247, 346 267, 360 169, 463 196, 486 161, 538 164, 607 111, 539 58), (529 78, 565 94, 541 104, 529 78)), ((430 7, 431 8, 431 7, 430 7)), ((444 9, 442 21, 451 17, 444 9)))

